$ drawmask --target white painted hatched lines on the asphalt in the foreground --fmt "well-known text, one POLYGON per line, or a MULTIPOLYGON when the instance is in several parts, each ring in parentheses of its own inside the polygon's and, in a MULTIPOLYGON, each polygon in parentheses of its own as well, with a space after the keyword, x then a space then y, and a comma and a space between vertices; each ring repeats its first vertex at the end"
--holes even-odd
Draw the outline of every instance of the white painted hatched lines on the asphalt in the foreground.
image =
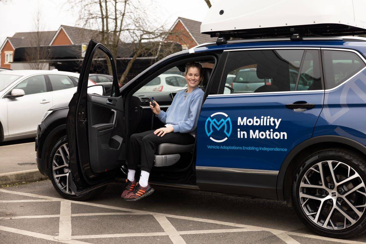
MULTIPOLYGON (((59 226, 59 237, 68 239, 68 240, 61 240, 59 238, 59 242, 62 243, 69 243, 69 244, 86 244, 85 242, 74 242, 75 239, 87 239, 87 238, 112 238, 112 237, 127 237, 127 236, 169 236, 169 238, 173 241, 173 243, 182 243, 184 244, 185 241, 180 236, 182 234, 203 234, 203 233, 227 233, 227 232, 252 232, 252 231, 266 231, 270 232, 279 239, 283 240, 287 244, 299 244, 298 241, 294 240, 291 236, 301 236, 301 237, 307 237, 311 239, 316 240, 322 240, 322 241, 334 241, 337 243, 346 243, 346 244, 366 244, 361 241, 351 241, 351 240, 341 240, 341 239, 335 239, 335 238, 329 238, 329 237, 323 237, 323 236, 317 236, 312 234, 303 234, 303 233, 297 233, 297 232, 290 232, 290 231, 284 231, 284 230, 278 230, 278 229, 271 229, 271 228, 265 228, 260 226, 252 226, 252 225, 244 225, 244 224, 237 224, 237 223, 231 223, 231 222, 225 222, 225 221, 217 221, 213 219, 202 219, 202 218, 194 218, 194 217, 186 217, 186 216, 179 216, 179 215, 172 215, 172 214, 163 214, 163 213, 155 213, 155 212, 149 212, 149 211, 142 211, 142 210, 135 210, 135 209, 126 209, 122 207, 115 207, 115 206, 108 206, 103 204, 97 204, 97 203, 88 203, 88 202, 78 202, 78 201, 72 201, 62 198, 54 198, 50 196, 42 196, 42 195, 36 195, 36 194, 30 194, 25 192, 16 192, 16 191, 9 191, 5 189, 0 189, 0 192, 9 193, 9 194, 16 194, 16 195, 23 195, 23 196, 31 196, 35 198, 42 198, 42 199, 48 199, 48 200, 55 200, 61 202, 61 210, 60 215, 39 215, 40 218, 50 218, 50 217, 60 217, 60 226, 59 226), (102 207, 106 209, 115 209, 115 210, 122 210, 122 211, 129 211, 130 213, 86 213, 86 214, 71 214, 71 203, 76 204, 82 204, 86 206, 95 206, 95 207, 102 207), (161 227, 164 229, 164 232, 153 232, 153 233, 122 233, 122 234, 96 234, 96 235, 84 235, 84 236, 72 236, 71 235, 71 216, 92 216, 92 215, 131 215, 131 214, 147 214, 147 215, 153 215, 157 222, 161 225, 161 227), (238 227, 237 229, 210 229, 210 230, 190 230, 190 231, 181 231, 178 232, 175 227, 171 224, 171 222, 167 219, 169 218, 178 218, 178 219, 186 219, 191 221, 198 221, 198 222, 205 222, 205 223, 212 223, 212 224, 220 224, 220 225, 227 225, 227 226, 235 226, 238 227), (69 221, 70 220, 70 221, 69 221), (62 228, 61 228, 62 227, 62 228), (291 235, 291 236, 290 236, 291 235)), ((17 201, 17 200, 14 200, 17 201)), ((29 202, 36 202, 37 200, 29 200, 29 202)), ((11 201, 9 201, 11 202, 11 201)), ((11 219, 11 218, 36 218, 36 216, 17 216, 17 217, 3 217, 3 219, 11 219)), ((1 219, 1 218, 0 218, 1 219)), ((25 230, 20 229, 14 229, 14 228, 8 228, 5 226, 0 226, 0 230, 5 230, 8 232, 13 233, 19 233, 29 236, 34 236, 41 239, 50 240, 51 236, 43 235, 40 233, 35 232, 27 232, 25 230)), ((52 238, 58 238, 53 237, 52 238)), ((55 240, 55 239, 53 239, 55 240)))

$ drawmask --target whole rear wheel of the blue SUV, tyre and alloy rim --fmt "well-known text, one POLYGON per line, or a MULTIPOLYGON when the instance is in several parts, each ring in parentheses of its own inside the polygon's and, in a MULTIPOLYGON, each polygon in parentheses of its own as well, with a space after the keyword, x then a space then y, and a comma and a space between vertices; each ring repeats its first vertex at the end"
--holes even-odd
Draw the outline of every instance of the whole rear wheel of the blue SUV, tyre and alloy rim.
POLYGON ((291 192, 300 219, 322 236, 350 238, 364 233, 365 172, 365 157, 345 149, 325 149, 305 158, 291 192))

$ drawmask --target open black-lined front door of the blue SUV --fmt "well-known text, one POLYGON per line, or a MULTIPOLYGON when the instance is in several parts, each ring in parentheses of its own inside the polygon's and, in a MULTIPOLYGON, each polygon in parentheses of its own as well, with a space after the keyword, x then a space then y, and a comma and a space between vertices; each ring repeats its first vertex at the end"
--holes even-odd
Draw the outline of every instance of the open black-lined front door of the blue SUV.
POLYGON ((124 154, 126 144, 123 110, 112 54, 104 45, 90 40, 82 63, 78 90, 70 101, 67 115, 70 153, 68 180, 76 195, 108 183, 120 167, 117 162, 124 154), (104 53, 107 57, 101 59, 96 52, 104 53), (94 56, 99 61, 106 60, 111 64, 113 86, 110 96, 87 93, 94 56))

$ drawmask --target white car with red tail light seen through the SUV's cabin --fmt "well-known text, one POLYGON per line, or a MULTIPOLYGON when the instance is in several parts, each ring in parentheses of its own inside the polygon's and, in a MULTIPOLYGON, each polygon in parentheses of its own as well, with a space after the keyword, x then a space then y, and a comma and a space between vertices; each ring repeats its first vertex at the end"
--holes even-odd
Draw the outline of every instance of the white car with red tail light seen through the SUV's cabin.
POLYGON ((139 89, 137 93, 146 91, 176 91, 184 89, 186 85, 186 78, 183 75, 161 74, 139 89))

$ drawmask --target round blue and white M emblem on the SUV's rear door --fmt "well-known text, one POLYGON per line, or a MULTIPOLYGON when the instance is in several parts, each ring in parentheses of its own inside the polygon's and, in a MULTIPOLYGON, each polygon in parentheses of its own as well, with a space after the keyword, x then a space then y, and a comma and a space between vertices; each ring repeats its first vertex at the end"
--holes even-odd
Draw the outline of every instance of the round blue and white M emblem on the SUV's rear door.
MULTIPOLYGON (((222 116, 220 116, 222 117, 222 116)), ((228 137, 231 134, 232 125, 230 117, 226 113, 217 112, 210 115, 210 117, 207 118, 206 124, 205 124, 206 134, 209 136, 211 140, 214 142, 224 142, 228 139, 228 137), (221 119, 220 121, 217 121, 215 117, 219 117, 220 115, 225 116, 225 119, 221 119), (224 128, 224 133, 226 135, 225 138, 221 139, 214 139, 211 135, 213 133, 213 127, 216 129, 216 131, 220 131, 221 128, 224 128)))

